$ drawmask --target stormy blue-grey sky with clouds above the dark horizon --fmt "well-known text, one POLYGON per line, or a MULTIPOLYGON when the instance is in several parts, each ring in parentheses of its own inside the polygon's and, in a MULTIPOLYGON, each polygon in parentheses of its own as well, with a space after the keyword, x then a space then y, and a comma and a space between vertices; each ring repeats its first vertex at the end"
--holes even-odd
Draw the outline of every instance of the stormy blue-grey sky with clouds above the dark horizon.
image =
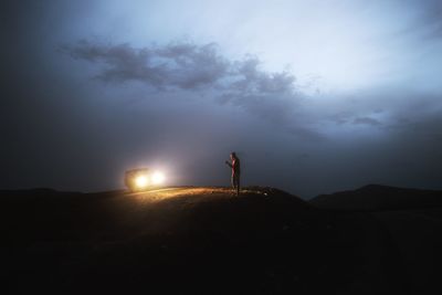
POLYGON ((442 2, 3 1, 0 189, 442 189, 442 2))

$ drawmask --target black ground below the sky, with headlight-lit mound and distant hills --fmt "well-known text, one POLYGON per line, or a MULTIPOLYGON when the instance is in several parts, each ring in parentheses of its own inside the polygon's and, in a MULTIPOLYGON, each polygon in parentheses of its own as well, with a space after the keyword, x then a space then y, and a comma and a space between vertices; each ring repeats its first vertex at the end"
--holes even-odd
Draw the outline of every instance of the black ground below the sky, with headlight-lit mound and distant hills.
POLYGON ((400 190, 371 186, 311 202, 263 188, 241 197, 223 188, 2 191, 2 288, 441 294, 442 194, 390 189, 400 190), (379 207, 382 193, 396 201, 379 207))

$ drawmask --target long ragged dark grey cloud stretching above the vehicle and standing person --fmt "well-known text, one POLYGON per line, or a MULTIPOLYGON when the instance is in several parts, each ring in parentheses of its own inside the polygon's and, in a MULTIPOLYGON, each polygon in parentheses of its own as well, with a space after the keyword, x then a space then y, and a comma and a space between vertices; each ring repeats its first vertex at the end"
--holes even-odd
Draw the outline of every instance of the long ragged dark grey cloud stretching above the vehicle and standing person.
POLYGON ((127 43, 113 45, 83 40, 75 45, 64 45, 62 51, 74 59, 103 64, 96 77, 105 82, 138 81, 158 89, 214 87, 242 96, 294 94, 293 74, 262 71, 261 61, 253 55, 230 61, 219 53, 215 43, 175 42, 135 49, 127 43))

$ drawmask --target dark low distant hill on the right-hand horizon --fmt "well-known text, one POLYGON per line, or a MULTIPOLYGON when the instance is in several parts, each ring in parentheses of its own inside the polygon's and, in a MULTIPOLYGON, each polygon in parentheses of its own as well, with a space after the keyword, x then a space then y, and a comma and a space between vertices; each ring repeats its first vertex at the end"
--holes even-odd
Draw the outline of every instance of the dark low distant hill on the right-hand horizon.
POLYGON ((369 185, 357 190, 320 194, 311 204, 334 210, 401 210, 442 207, 442 191, 369 185))

